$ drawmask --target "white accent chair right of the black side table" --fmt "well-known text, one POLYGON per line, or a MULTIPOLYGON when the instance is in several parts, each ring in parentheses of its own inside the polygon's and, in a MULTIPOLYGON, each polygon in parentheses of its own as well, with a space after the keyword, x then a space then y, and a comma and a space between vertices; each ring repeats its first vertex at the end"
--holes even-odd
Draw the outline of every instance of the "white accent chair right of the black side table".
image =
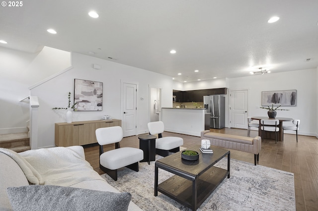
POLYGON ((180 137, 162 137, 164 124, 162 121, 149 122, 148 130, 151 135, 158 134, 156 139, 156 154, 162 157, 169 155, 169 152, 179 152, 180 146, 183 145, 183 139, 180 137))

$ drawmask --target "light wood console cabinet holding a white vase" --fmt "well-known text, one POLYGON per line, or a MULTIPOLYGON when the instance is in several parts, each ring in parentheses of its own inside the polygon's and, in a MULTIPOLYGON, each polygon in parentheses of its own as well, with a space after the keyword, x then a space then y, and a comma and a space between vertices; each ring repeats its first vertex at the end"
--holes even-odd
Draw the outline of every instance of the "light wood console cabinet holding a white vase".
POLYGON ((55 145, 69 147, 97 143, 95 130, 101 127, 121 126, 120 119, 55 123, 55 145))

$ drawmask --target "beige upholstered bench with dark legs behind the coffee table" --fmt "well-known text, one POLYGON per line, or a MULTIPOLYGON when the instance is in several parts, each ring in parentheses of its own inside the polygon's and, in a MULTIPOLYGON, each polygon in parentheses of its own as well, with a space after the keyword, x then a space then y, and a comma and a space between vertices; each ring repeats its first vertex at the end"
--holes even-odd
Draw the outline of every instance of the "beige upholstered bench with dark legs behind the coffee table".
POLYGON ((210 130, 201 132, 202 139, 210 140, 211 145, 217 147, 223 147, 232 150, 238 150, 246 153, 254 154, 254 164, 256 165, 259 159, 259 151, 261 150, 261 137, 256 136, 255 138, 236 136, 222 133, 213 133, 210 130))

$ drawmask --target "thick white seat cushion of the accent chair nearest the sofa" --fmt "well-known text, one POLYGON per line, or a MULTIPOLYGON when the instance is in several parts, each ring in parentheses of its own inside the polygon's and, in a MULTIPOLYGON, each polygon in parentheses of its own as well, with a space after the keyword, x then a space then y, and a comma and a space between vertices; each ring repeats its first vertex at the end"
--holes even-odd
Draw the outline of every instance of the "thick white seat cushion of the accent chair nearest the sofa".
POLYGON ((115 170, 142 159, 144 159, 144 151, 137 148, 124 147, 103 153, 100 156, 100 164, 108 169, 115 170))

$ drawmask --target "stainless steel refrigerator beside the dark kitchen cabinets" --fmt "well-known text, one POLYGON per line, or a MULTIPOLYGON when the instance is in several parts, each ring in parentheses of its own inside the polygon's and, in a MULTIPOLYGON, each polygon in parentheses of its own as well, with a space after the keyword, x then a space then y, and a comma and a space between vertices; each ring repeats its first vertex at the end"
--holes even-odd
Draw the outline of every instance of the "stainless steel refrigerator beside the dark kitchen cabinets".
POLYGON ((205 112, 210 113, 210 128, 225 127, 225 97, 220 95, 203 96, 205 112))

